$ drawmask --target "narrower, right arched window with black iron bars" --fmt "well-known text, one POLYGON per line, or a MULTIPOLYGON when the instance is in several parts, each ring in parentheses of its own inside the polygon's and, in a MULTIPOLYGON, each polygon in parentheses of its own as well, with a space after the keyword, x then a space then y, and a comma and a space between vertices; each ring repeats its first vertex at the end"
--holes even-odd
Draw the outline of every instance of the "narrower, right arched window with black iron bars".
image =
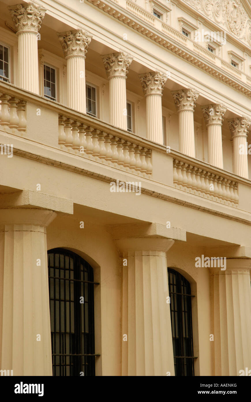
POLYGON ((168 268, 175 375, 194 375, 190 283, 168 268))

